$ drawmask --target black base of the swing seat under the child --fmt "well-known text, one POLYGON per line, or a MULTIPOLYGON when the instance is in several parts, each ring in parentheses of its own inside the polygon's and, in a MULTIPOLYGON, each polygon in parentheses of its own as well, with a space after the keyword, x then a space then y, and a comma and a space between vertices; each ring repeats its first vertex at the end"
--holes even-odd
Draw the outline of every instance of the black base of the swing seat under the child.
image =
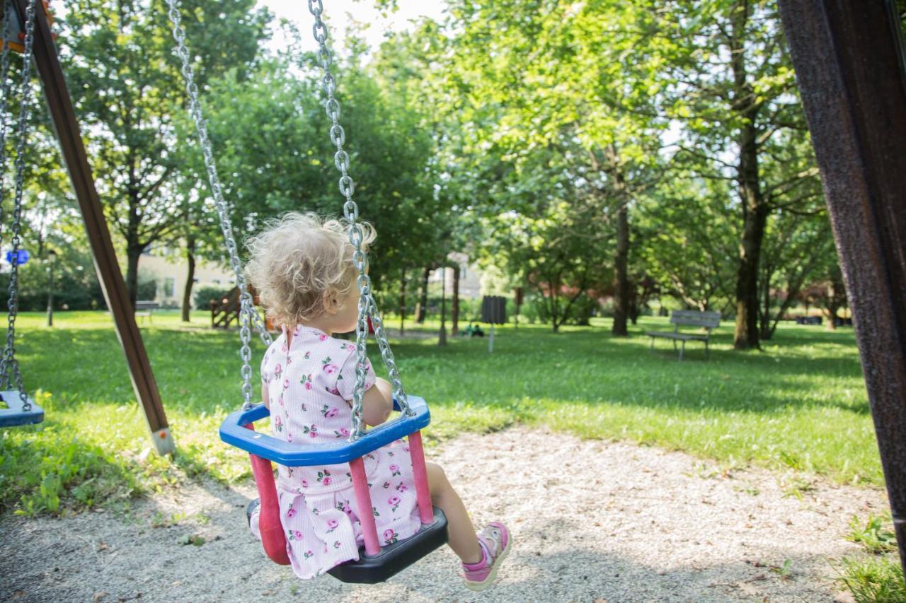
POLYGON ((365 548, 361 547, 358 561, 346 561, 327 573, 341 582, 378 584, 443 546, 447 540, 447 517, 434 507, 434 521, 422 525, 414 536, 381 547, 381 552, 373 557, 366 555, 365 548))

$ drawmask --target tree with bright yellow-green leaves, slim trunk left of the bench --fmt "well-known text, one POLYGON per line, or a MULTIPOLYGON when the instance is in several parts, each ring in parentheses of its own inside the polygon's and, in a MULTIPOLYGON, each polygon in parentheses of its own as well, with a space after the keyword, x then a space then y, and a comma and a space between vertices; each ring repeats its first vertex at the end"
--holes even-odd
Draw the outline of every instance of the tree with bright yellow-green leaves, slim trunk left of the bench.
POLYGON ((461 143, 467 155, 515 162, 557 152, 569 164, 570 186, 608 208, 593 220, 604 227, 612 215, 616 230, 604 252, 615 267, 616 335, 627 333, 631 208, 654 179, 662 127, 651 110, 649 55, 638 52, 640 33, 631 27, 645 10, 614 1, 453 3, 444 55, 451 95, 461 100, 454 108, 471 138, 461 143))

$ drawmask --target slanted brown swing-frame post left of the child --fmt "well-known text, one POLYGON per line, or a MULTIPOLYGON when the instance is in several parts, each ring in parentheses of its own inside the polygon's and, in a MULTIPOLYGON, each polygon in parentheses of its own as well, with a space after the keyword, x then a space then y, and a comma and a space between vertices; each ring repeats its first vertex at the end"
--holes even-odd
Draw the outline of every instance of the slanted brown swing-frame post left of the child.
MULTIPOLYGON (((24 15, 28 0, 15 0, 14 6, 20 15, 24 15)), ((98 191, 94 187, 92 168, 85 154, 79 122, 72 110, 72 99, 66 89, 56 46, 47 19, 40 9, 35 15, 34 23, 34 62, 43 82, 44 96, 57 139, 60 140, 66 168, 69 170, 72 190, 79 201, 88 240, 92 244, 94 268, 97 270, 104 299, 113 315, 116 334, 129 364, 135 397, 139 399, 144 410, 154 447, 160 455, 172 453, 173 437, 170 435, 167 416, 160 402, 158 385, 154 381, 148 353, 145 351, 139 326, 135 323, 135 314, 126 293, 126 283, 123 282, 120 264, 113 251, 110 229, 104 219, 98 191)))

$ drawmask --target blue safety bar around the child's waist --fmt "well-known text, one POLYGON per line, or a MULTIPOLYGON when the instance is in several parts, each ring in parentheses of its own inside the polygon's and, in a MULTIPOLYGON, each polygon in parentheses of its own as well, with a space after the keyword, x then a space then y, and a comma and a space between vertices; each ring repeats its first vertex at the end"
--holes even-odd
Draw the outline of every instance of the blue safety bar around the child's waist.
MULTIPOLYGON (((424 398, 409 396, 408 399, 415 415, 400 415, 393 421, 373 427, 355 442, 339 440, 331 444, 290 443, 246 428, 249 423, 270 415, 264 404, 257 404, 248 410, 238 410, 227 416, 220 426, 220 439, 228 445, 287 467, 349 463, 382 445, 388 445, 428 426, 431 416, 424 398)), ((393 401, 393 408, 400 410, 396 400, 393 401)))

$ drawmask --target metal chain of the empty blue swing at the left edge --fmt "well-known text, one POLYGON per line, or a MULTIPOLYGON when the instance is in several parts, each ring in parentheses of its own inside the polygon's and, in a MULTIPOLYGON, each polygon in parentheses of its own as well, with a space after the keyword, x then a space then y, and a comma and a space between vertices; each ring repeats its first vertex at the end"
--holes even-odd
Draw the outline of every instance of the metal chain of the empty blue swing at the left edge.
POLYGON ((35 5, 37 0, 30 0, 28 7, 25 9, 25 39, 24 53, 22 61, 22 95, 19 100, 19 124, 18 140, 15 147, 15 194, 13 198, 13 228, 12 233, 12 255, 11 269, 9 277, 9 300, 6 306, 9 309, 7 315, 6 327, 6 348, 4 358, 0 361, 0 382, 5 387, 11 388, 13 385, 19 390, 19 396, 22 397, 22 407, 24 411, 32 408, 28 397, 25 395, 25 388, 22 383, 22 372, 19 370, 19 361, 15 359, 15 317, 18 313, 19 302, 19 244, 22 243, 20 233, 22 231, 22 195, 25 183, 25 144, 28 138, 28 117, 29 102, 31 101, 31 76, 32 76, 32 46, 34 44, 34 15, 36 13, 35 5))

